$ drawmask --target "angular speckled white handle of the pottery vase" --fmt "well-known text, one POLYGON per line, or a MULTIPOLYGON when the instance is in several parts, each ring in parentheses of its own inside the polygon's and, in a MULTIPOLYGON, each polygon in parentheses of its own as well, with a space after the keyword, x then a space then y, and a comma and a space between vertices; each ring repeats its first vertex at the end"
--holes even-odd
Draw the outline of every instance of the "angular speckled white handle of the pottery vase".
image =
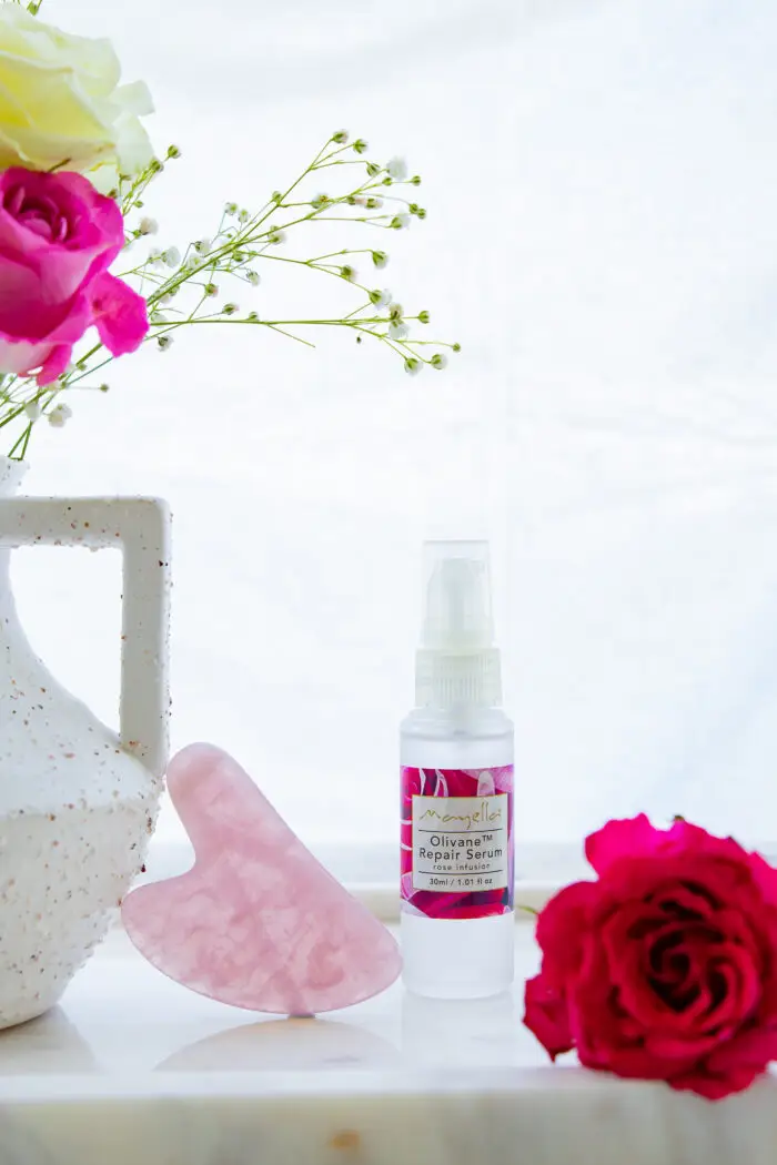
POLYGON ((155 776, 168 762, 170 513, 154 497, 0 500, 0 549, 86 546, 123 552, 121 746, 155 776))

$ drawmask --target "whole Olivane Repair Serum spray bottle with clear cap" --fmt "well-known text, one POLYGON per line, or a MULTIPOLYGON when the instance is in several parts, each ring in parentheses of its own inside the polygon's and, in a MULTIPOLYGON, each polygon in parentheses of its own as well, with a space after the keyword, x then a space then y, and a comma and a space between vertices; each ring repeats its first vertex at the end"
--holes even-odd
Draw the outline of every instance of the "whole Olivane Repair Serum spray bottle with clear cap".
POLYGON ((401 734, 404 982, 482 998, 514 975, 513 723, 488 544, 429 542, 424 555, 416 708, 401 734))

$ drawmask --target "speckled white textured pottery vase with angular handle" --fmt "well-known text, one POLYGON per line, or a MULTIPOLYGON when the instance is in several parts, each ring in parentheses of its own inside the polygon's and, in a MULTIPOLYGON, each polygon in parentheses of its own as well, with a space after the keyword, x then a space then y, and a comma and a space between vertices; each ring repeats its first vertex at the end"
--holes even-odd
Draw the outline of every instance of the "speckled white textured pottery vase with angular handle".
POLYGON ((0 458, 0 1028, 57 1002, 140 871, 169 709, 165 506, 14 497, 23 472, 0 458), (27 642, 8 578, 20 545, 123 551, 120 736, 27 642))

